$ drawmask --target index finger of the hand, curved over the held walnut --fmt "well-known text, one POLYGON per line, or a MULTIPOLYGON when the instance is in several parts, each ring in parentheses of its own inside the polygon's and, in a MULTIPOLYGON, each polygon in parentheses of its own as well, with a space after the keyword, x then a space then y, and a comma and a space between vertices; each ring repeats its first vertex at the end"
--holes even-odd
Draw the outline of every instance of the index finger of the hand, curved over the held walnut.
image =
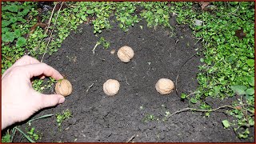
POLYGON ((22 69, 26 70, 27 77, 33 78, 40 75, 54 78, 56 80, 62 79, 63 76, 53 67, 46 65, 46 63, 36 63, 32 65, 22 66, 22 69))

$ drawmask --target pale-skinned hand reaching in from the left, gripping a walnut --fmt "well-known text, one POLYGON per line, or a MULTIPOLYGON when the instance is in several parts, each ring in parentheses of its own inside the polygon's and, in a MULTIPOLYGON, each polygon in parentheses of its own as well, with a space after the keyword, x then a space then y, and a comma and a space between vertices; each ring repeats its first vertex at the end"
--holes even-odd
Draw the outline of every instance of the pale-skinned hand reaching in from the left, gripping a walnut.
POLYGON ((22 122, 42 108, 65 101, 60 94, 41 94, 32 87, 31 78, 62 79, 53 67, 30 56, 18 59, 2 74, 2 130, 15 122, 22 122))

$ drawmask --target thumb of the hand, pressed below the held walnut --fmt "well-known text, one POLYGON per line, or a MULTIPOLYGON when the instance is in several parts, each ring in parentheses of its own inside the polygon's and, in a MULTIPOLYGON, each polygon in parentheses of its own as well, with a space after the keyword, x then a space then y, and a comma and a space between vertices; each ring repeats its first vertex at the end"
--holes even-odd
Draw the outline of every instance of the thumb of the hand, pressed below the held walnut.
POLYGON ((65 98, 60 94, 41 94, 41 107, 56 106, 65 101, 65 98))

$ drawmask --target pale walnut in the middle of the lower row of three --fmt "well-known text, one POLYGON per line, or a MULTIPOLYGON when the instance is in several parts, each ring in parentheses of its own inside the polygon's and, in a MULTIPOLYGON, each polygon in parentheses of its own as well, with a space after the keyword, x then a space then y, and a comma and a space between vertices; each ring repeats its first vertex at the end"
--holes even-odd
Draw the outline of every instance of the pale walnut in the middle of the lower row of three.
POLYGON ((107 95, 118 94, 120 83, 115 79, 109 79, 103 84, 103 91, 107 95))

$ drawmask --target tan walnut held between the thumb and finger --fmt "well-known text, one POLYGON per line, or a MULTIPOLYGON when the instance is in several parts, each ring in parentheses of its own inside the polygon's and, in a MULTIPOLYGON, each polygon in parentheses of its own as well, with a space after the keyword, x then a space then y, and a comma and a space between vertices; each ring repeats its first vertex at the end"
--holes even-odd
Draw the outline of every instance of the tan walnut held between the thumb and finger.
POLYGON ((57 94, 61 94, 66 97, 72 93, 72 85, 70 81, 66 79, 58 80, 55 86, 55 91, 57 94))

